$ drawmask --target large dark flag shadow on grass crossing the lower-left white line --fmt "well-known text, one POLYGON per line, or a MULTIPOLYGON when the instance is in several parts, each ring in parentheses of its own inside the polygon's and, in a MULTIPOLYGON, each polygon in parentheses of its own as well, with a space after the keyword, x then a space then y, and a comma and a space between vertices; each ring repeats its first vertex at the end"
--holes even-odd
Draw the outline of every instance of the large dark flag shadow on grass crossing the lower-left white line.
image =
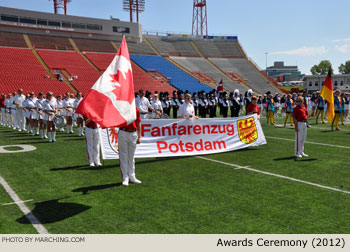
POLYGON ((16 221, 21 224, 31 224, 28 219, 31 219, 34 215, 42 224, 55 223, 85 212, 91 208, 90 206, 85 206, 77 203, 60 203, 60 200, 62 199, 54 199, 35 203, 35 208, 31 213, 22 216, 16 221))

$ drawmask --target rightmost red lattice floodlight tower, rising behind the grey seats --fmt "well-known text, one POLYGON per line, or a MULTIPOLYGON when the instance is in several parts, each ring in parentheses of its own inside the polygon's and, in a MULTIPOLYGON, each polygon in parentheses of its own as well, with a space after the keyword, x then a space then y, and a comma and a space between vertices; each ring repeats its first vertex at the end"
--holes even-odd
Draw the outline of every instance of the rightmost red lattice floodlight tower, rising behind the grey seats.
POLYGON ((206 0, 193 0, 192 35, 208 37, 206 0))

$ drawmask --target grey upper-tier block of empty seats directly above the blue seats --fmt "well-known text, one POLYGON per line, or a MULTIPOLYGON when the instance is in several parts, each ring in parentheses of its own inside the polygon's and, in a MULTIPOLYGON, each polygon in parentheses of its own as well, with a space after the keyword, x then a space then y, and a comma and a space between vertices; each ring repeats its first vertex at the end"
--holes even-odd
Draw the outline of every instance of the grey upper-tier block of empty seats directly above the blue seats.
POLYGON ((194 56, 199 57, 196 49, 189 40, 169 40, 166 37, 146 36, 154 48, 165 56, 194 56))

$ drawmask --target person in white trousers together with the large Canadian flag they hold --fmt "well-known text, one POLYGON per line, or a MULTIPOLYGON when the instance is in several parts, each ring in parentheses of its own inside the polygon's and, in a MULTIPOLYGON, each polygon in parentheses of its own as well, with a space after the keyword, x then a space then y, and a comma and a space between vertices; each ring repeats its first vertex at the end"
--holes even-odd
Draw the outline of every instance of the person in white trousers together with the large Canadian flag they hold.
POLYGON ((124 186, 140 184, 135 176, 135 150, 141 143, 141 117, 135 105, 134 82, 128 46, 123 37, 112 63, 79 103, 76 113, 101 128, 119 127, 119 163, 124 186), (136 121, 135 121, 136 120, 136 121))

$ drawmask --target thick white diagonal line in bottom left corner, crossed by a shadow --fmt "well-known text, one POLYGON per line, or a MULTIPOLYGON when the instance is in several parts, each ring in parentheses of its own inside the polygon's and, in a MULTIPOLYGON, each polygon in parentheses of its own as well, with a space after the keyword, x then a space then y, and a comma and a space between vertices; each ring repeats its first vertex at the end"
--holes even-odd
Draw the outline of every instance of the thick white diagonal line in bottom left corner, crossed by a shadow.
POLYGON ((12 200, 24 213, 25 217, 32 223, 33 227, 38 231, 39 234, 48 234, 47 229, 40 223, 40 221, 34 216, 34 214, 29 210, 29 208, 23 203, 23 201, 18 197, 15 191, 7 184, 5 179, 0 176, 0 183, 4 187, 5 191, 10 195, 12 200))

